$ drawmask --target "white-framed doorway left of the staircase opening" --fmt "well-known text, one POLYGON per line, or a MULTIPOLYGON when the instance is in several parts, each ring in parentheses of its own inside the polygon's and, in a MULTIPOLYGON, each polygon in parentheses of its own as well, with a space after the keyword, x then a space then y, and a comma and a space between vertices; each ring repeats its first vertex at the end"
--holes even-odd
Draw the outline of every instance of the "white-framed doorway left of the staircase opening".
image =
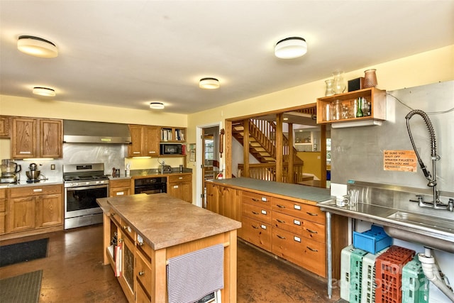
POLYGON ((219 129, 221 123, 196 128, 196 205, 206 208, 205 180, 213 180, 220 171, 219 129))

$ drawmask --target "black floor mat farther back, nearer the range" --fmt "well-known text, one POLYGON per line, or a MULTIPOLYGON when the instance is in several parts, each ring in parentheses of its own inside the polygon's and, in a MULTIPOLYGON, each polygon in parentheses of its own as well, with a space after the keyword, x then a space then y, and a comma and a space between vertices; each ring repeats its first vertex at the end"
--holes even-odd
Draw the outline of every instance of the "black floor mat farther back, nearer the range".
POLYGON ((0 267, 45 258, 49 238, 0 246, 0 267))

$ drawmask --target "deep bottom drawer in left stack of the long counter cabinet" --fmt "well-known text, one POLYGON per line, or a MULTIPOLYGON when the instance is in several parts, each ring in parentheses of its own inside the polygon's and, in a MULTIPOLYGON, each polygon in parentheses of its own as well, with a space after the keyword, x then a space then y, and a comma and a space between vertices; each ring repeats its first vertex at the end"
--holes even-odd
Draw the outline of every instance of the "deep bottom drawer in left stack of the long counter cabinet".
POLYGON ((243 216, 243 239, 271 251, 271 225, 243 216))

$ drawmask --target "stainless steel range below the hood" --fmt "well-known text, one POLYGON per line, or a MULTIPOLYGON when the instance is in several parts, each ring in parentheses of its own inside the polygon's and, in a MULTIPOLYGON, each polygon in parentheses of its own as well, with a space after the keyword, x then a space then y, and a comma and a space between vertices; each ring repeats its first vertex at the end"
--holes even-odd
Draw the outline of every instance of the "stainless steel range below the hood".
POLYGON ((109 177, 104 163, 63 165, 65 229, 102 222, 98 198, 109 197, 109 177))

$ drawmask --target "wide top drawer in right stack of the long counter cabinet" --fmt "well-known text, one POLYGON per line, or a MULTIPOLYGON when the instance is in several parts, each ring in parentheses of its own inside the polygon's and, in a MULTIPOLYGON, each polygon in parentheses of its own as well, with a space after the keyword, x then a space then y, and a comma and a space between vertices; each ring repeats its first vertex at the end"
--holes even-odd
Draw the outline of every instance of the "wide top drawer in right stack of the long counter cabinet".
POLYGON ((274 198, 272 200, 272 209, 290 216, 297 216, 301 219, 325 224, 325 213, 318 206, 274 198))

